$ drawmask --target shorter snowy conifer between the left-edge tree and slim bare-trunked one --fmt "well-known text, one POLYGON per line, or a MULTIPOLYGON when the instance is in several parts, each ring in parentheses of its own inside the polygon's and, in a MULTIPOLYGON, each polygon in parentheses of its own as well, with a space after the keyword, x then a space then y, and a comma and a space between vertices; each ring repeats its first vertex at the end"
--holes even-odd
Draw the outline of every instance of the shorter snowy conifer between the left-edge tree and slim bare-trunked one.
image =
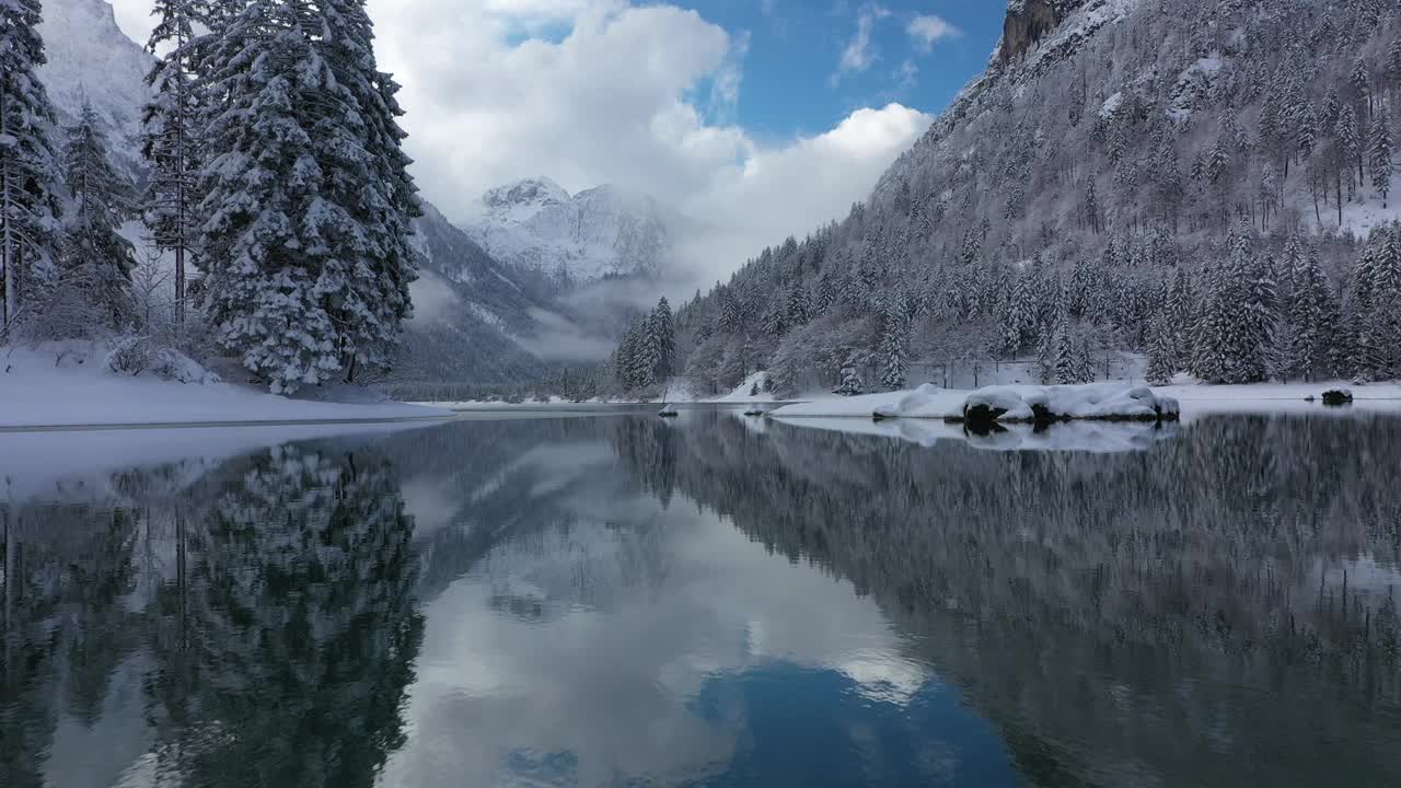
POLYGON ((64 181, 71 209, 64 222, 63 278, 83 287, 106 328, 132 322, 136 250, 120 227, 133 213, 134 188, 109 160, 106 135, 92 107, 83 105, 66 129, 64 181))

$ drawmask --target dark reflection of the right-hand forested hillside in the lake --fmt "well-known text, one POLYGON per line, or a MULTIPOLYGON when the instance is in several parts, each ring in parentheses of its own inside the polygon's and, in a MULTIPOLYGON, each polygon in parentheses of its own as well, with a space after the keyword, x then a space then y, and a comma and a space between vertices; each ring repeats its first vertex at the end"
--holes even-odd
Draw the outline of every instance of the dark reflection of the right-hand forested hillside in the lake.
POLYGON ((916 635, 1035 782, 1401 784, 1398 419, 1212 419, 1121 454, 654 435, 681 494, 916 635))

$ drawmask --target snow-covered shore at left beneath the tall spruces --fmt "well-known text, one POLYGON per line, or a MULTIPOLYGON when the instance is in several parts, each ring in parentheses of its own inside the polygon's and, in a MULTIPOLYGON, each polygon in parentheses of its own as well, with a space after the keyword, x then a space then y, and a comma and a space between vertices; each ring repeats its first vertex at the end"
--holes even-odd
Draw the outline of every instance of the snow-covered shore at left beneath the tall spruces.
MULTIPOLYGON (((186 384, 149 373, 115 374, 102 369, 105 352, 102 346, 73 344, 0 348, 0 429, 370 422, 451 415, 402 402, 374 402, 364 395, 354 404, 289 400, 230 383, 186 384)), ((346 400, 354 393, 336 394, 346 400)))

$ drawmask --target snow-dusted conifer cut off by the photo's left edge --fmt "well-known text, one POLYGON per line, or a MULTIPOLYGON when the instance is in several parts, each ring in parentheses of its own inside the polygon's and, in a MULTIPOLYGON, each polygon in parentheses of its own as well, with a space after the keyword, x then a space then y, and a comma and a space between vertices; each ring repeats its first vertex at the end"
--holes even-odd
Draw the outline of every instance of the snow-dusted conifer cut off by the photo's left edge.
POLYGON ((48 129, 53 105, 36 70, 45 63, 39 0, 0 0, 0 337, 20 318, 59 252, 59 170, 48 129))

